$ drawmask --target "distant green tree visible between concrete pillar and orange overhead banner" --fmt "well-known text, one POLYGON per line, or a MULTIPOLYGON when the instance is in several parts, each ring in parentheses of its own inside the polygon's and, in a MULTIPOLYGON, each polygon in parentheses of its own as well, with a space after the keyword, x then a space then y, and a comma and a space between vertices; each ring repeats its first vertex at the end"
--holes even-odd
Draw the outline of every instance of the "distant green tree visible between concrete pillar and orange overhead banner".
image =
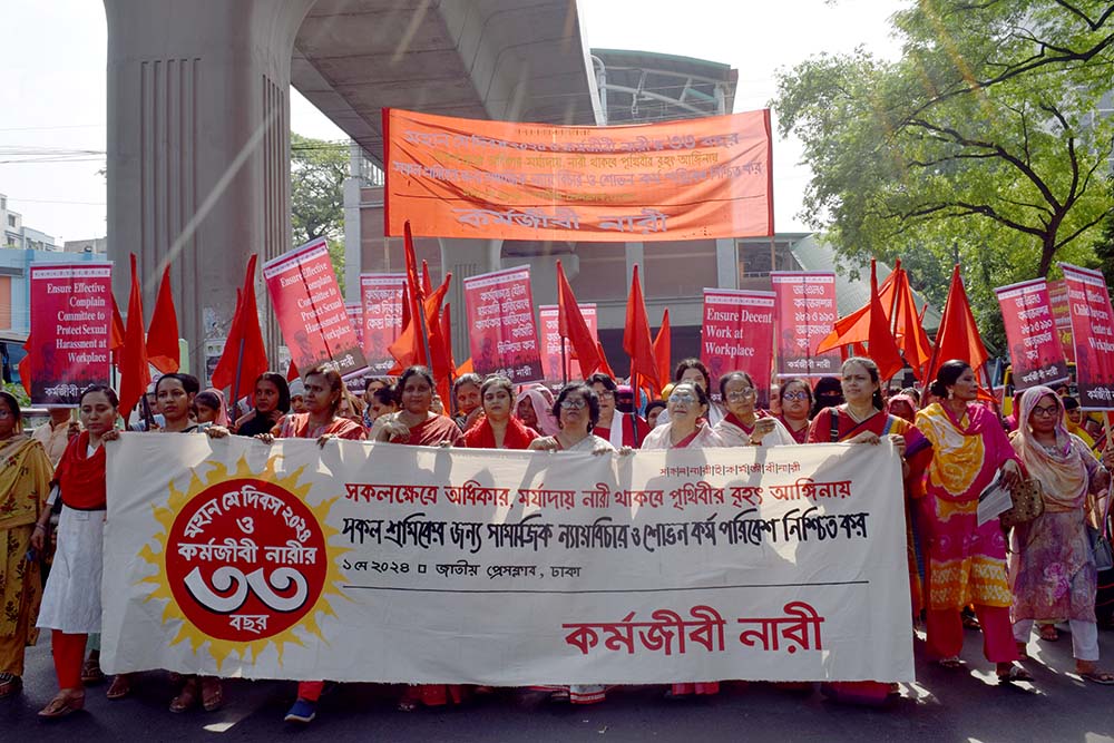
POLYGON ((294 244, 329 241, 329 256, 344 291, 344 144, 290 134, 290 206, 294 244))

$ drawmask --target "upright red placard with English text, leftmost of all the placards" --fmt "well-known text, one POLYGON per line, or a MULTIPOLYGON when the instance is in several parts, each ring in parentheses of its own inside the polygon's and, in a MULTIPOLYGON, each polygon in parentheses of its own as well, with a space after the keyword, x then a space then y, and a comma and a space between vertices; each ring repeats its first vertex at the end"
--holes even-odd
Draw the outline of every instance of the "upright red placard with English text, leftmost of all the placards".
POLYGON ((77 407, 108 384, 111 276, 108 263, 31 266, 32 403, 77 407))

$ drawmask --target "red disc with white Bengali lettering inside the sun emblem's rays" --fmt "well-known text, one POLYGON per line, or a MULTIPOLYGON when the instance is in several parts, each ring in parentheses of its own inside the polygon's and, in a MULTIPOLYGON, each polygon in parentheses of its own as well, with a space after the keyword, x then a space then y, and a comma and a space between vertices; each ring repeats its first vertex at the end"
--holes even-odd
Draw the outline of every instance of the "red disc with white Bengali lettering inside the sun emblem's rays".
POLYGON ((166 541, 166 577, 182 614, 209 637, 241 643, 281 634, 313 610, 328 560, 309 507, 255 479, 205 488, 166 541))

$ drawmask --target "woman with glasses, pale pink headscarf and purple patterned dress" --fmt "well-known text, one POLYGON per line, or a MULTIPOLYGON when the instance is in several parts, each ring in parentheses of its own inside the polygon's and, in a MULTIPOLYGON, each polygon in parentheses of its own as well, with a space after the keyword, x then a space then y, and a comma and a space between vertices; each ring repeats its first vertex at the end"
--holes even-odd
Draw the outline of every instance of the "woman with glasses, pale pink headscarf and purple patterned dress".
POLYGON ((1064 401, 1051 388, 1025 391, 1018 423, 1010 443, 1029 477, 1040 482, 1045 509, 1014 527, 1009 578, 1017 652, 1028 657, 1025 646, 1034 622, 1067 620, 1075 673, 1096 684, 1114 684, 1114 674, 1097 667, 1098 573, 1086 530, 1088 521, 1098 524, 1105 514, 1110 472, 1085 441, 1068 432, 1064 401))

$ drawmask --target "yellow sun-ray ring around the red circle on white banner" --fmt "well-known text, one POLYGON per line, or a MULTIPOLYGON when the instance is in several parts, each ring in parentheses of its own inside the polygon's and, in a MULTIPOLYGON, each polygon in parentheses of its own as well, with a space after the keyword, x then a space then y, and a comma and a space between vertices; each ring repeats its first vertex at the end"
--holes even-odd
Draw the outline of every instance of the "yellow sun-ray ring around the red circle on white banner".
POLYGON ((217 669, 221 668, 224 661, 232 653, 237 653, 241 659, 246 659, 254 664, 260 653, 266 649, 268 645, 274 644, 275 649, 278 653, 278 663, 281 665, 283 653, 287 644, 295 644, 304 647, 304 639, 310 636, 315 636, 321 642, 328 642, 325 641, 325 637, 321 632, 321 627, 317 624, 319 618, 322 616, 336 616, 333 607, 329 603, 330 594, 332 596, 345 598, 343 592, 341 590, 341 586, 345 583, 345 578, 339 568, 339 558, 341 555, 351 550, 346 547, 330 545, 332 537, 339 535, 340 531, 329 526, 326 521, 329 511, 332 505, 339 499, 339 496, 336 498, 322 500, 316 506, 309 504, 305 498, 310 492, 311 486, 309 483, 299 485, 299 479, 304 468, 300 468, 285 477, 281 477, 275 471, 275 465, 278 459, 280 457, 277 456, 268 458, 266 467, 262 472, 253 471, 247 465, 246 457, 242 457, 240 461, 236 462, 235 471, 229 471, 223 463, 208 462, 207 465, 209 469, 208 472, 205 473, 204 480, 199 476, 197 469, 190 470, 189 487, 185 491, 178 490, 172 481, 167 485, 169 498, 166 504, 163 506, 152 506, 153 515, 162 525, 163 531, 155 535, 157 545, 154 548, 148 542, 139 551, 139 557, 155 567, 154 575, 137 581, 137 585, 153 584, 149 586, 150 593, 144 599, 144 603, 153 600, 165 602, 166 605, 163 609, 163 624, 166 625, 174 622, 178 625, 177 635, 173 641, 170 641, 170 645, 177 645, 178 643, 188 639, 195 654, 203 646, 207 645, 209 654, 212 654, 214 661, 216 661, 217 669), (304 504, 305 508, 313 514, 320 525, 324 537, 326 559, 325 580, 323 583, 322 590, 317 596, 315 604, 305 613, 300 622, 291 625, 281 633, 261 637, 258 639, 243 642, 213 637, 190 622, 186 613, 183 612, 175 599, 166 568, 167 542, 169 540, 169 535, 175 524, 175 519, 182 510, 194 498, 204 493, 208 488, 217 486, 225 480, 234 479, 258 480, 273 483, 287 492, 297 496, 297 498, 304 504), (300 633, 296 630, 302 632, 300 633))

